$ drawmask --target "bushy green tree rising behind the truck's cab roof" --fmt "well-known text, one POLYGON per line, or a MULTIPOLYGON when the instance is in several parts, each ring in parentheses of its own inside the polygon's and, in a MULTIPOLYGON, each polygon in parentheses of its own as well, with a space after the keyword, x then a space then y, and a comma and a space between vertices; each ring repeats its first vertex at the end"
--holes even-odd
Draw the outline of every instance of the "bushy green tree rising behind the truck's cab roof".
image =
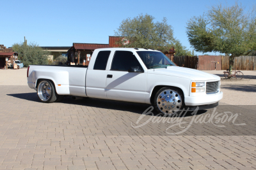
POLYGON ((127 18, 121 22, 115 36, 121 37, 116 42, 120 47, 152 48, 166 52, 175 46, 180 55, 186 55, 188 52, 179 40, 173 38, 172 25, 167 24, 166 18, 161 22, 154 22, 154 17, 147 14, 127 18), (129 43, 125 45, 126 40, 129 40, 129 43))

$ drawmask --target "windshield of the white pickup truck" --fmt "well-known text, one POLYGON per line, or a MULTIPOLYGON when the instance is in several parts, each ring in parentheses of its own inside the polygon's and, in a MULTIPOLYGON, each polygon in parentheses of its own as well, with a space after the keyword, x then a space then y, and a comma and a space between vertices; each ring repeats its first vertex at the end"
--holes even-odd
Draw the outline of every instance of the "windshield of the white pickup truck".
POLYGON ((137 52, 148 69, 166 68, 175 64, 161 52, 142 51, 137 52))

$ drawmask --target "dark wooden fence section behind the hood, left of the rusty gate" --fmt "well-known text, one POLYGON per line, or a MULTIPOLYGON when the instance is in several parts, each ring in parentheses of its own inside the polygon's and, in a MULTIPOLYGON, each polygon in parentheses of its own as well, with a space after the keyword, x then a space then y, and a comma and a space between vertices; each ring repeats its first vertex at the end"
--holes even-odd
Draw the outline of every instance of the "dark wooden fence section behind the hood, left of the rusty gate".
POLYGON ((180 67, 188 67, 191 69, 196 69, 198 58, 197 56, 174 56, 172 61, 180 67))

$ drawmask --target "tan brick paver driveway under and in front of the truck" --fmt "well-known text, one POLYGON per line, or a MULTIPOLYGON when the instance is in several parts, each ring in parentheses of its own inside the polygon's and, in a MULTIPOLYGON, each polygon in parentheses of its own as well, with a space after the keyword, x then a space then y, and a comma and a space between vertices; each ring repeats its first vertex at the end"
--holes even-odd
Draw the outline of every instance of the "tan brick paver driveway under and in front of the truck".
POLYGON ((256 169, 253 105, 166 118, 141 115, 147 104, 44 104, 28 86, 0 88, 0 169, 256 169))

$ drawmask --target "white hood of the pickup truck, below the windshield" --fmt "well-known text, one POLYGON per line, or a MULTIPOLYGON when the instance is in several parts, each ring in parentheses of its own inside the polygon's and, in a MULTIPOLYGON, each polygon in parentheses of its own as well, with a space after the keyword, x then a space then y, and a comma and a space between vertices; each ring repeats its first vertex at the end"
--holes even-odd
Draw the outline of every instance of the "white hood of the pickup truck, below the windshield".
POLYGON ((168 66, 166 69, 148 69, 149 74, 162 74, 166 76, 175 76, 180 78, 186 78, 189 80, 220 80, 220 76, 214 74, 205 73, 197 69, 189 69, 186 67, 168 66))

